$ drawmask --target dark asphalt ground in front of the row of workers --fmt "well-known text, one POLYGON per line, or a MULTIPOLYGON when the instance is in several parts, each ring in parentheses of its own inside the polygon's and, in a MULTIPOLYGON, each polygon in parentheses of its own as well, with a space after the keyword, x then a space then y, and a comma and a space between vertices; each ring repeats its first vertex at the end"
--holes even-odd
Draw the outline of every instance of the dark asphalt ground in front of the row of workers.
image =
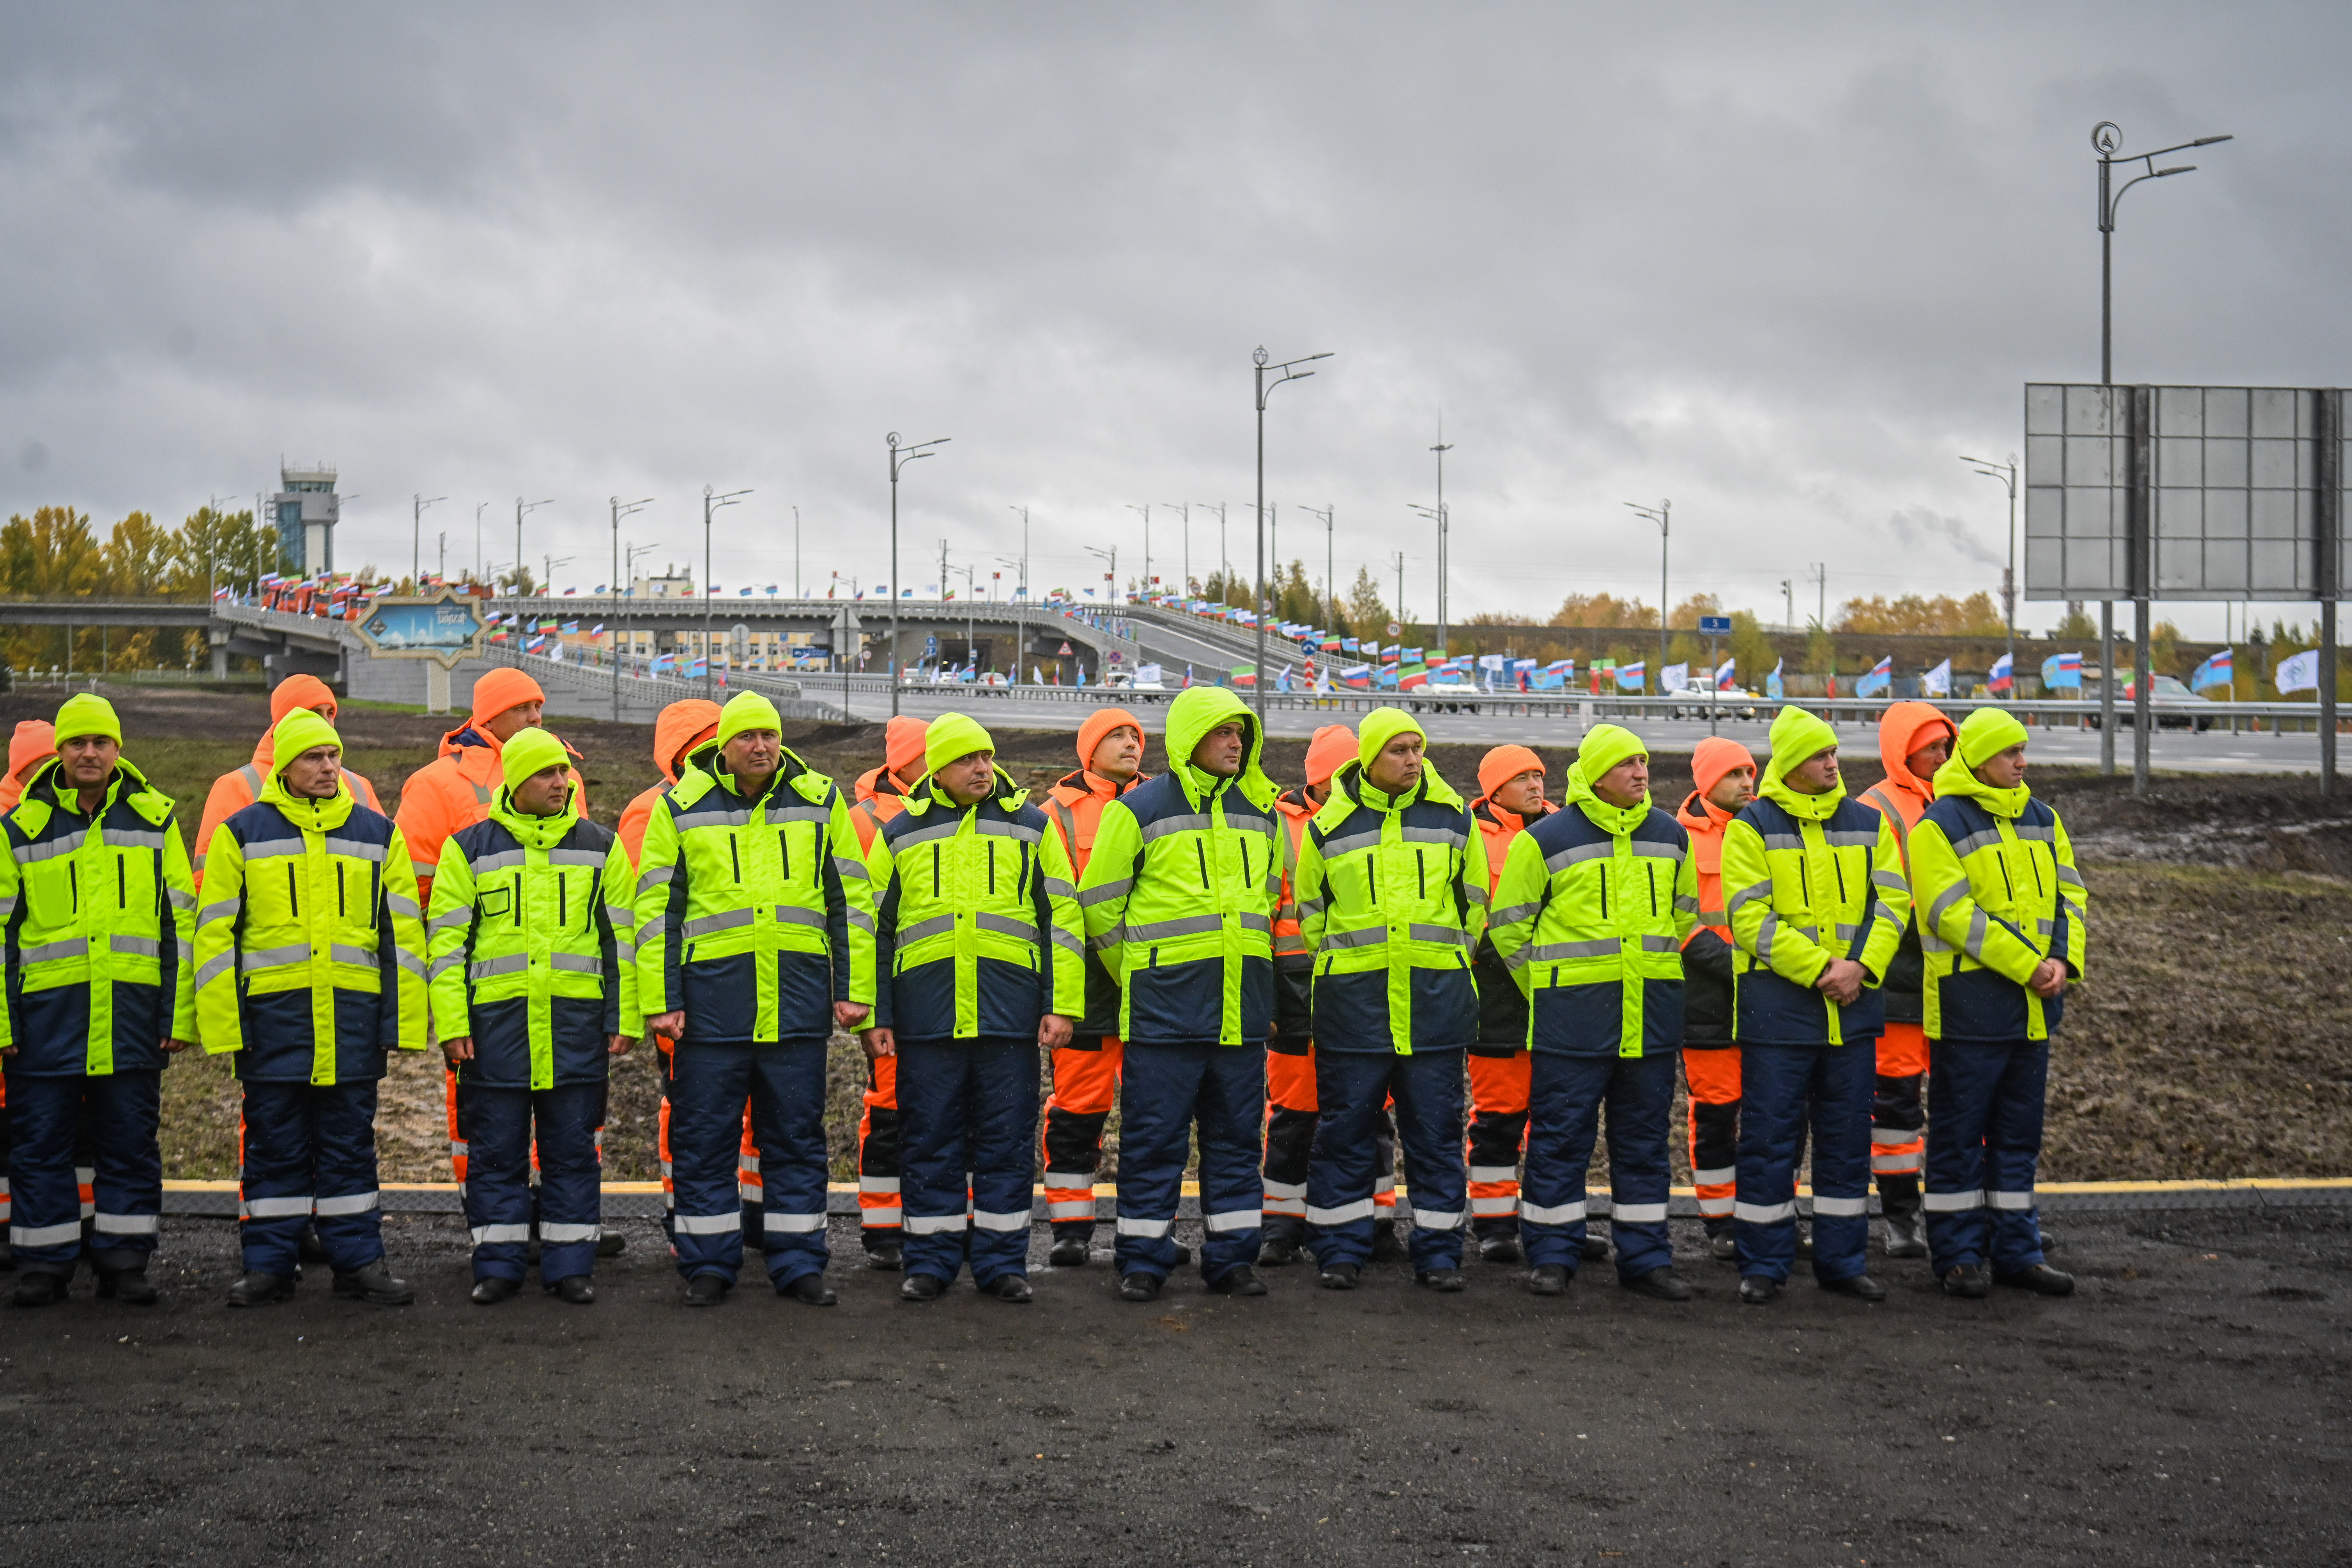
POLYGON ((595 1307, 473 1307, 456 1220, 393 1215, 414 1307, 230 1312, 233 1225, 169 1220, 162 1305, 0 1314, 0 1563, 2352 1554, 2343 1208, 2065 1215, 2070 1300, 1879 1260, 1879 1307, 1740 1307, 1682 1222, 1682 1307, 1494 1265, 1138 1307, 1042 1253, 1028 1307, 917 1307, 837 1222, 840 1307, 696 1312, 628 1229, 595 1307))

